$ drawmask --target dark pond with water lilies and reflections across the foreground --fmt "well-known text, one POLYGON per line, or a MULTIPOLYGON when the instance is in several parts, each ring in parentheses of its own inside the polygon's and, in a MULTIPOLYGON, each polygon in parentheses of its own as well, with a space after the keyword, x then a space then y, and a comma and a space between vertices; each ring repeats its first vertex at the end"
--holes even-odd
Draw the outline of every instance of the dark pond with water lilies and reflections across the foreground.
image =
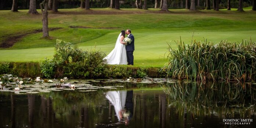
POLYGON ((165 79, 68 80, 6 85, 1 128, 256 127, 252 83, 165 79), (57 85, 56 85, 57 84, 57 85))

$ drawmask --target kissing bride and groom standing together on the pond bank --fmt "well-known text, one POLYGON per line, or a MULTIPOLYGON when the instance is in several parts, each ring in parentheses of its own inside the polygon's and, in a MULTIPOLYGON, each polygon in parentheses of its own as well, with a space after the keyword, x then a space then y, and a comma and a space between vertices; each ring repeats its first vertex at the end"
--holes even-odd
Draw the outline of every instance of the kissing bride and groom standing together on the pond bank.
POLYGON ((115 48, 104 59, 107 59, 109 65, 133 65, 133 51, 134 36, 131 30, 122 30, 116 40, 115 48))

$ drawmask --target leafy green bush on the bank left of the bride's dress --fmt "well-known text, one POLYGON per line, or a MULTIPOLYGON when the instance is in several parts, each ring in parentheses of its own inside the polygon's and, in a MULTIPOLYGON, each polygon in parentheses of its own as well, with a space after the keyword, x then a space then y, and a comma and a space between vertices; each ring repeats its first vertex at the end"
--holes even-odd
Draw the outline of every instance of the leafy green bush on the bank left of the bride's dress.
POLYGON ((104 56, 101 51, 83 51, 69 42, 57 40, 54 58, 40 63, 41 72, 48 78, 102 77, 107 67, 104 56))

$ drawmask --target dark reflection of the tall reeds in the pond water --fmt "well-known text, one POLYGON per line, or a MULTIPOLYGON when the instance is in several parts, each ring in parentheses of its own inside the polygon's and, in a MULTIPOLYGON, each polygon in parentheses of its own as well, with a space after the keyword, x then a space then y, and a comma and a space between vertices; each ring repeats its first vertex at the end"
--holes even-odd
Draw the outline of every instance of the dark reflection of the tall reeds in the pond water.
POLYGON ((255 113, 256 88, 241 83, 171 83, 163 86, 169 108, 184 113, 217 117, 251 116, 255 113))

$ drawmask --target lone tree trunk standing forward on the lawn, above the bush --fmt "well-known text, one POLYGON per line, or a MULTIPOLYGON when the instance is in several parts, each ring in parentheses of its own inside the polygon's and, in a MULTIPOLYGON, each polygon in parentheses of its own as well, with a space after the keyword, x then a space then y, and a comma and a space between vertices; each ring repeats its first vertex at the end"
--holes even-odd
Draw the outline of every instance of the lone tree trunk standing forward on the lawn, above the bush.
POLYGON ((48 0, 44 0, 42 3, 40 3, 40 8, 43 14, 43 37, 49 37, 49 30, 48 30, 48 0), (44 6, 44 10, 43 10, 44 6))

